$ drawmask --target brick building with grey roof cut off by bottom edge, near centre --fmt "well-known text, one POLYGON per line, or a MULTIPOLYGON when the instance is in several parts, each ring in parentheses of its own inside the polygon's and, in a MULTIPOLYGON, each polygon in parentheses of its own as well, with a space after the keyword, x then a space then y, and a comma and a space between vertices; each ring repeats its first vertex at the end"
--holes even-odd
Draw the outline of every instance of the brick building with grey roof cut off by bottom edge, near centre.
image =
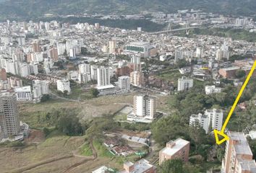
POLYGON ((133 164, 130 161, 124 162, 124 170, 120 173, 156 173, 156 167, 145 159, 140 159, 133 164))

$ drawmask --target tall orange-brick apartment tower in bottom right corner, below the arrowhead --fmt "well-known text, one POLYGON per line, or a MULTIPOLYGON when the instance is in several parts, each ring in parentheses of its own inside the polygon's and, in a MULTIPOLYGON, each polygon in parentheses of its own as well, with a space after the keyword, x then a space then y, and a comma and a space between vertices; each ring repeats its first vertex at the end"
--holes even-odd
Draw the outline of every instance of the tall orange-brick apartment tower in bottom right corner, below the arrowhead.
POLYGON ((226 141, 225 157, 222 160, 221 173, 254 173, 256 163, 252 159, 247 138, 242 132, 228 132, 229 140, 226 141))

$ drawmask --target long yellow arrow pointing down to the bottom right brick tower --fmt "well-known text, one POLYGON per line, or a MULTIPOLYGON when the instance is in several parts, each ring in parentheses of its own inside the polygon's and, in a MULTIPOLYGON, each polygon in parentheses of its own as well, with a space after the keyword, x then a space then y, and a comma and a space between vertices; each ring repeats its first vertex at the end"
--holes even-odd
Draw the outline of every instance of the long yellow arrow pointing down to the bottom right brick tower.
POLYGON ((255 61, 255 63, 253 63, 252 69, 251 69, 251 71, 249 71, 249 74, 248 74, 246 80, 244 81, 244 84, 243 84, 242 88, 240 89, 239 94, 237 95, 236 100, 235 100, 233 106, 231 107, 231 110, 229 111, 229 115, 228 115, 228 117, 226 117, 226 120, 225 120, 225 122, 224 122, 224 124, 223 124, 223 126, 221 128, 221 131, 218 131, 216 129, 213 130, 214 136, 216 138, 216 143, 218 145, 220 145, 221 143, 229 140, 229 136, 227 136, 225 134, 226 125, 228 125, 230 117, 233 114, 234 109, 236 108, 236 105, 239 102, 239 99, 242 96, 242 94, 244 92, 244 89, 245 89, 245 87, 247 86, 247 84, 249 82, 249 79, 251 79, 253 71, 255 71, 255 68, 256 68, 256 61, 255 61), (221 140, 219 140, 219 138, 218 138, 219 136, 222 137, 221 140))

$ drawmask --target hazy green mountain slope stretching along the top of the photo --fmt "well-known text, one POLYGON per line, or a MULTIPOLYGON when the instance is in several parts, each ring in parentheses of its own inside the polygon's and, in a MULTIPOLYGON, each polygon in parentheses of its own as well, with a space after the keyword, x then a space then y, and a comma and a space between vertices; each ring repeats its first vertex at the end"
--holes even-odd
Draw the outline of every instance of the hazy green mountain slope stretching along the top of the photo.
POLYGON ((256 0, 0 0, 0 17, 40 17, 52 14, 132 14, 202 9, 221 14, 256 14, 256 0))

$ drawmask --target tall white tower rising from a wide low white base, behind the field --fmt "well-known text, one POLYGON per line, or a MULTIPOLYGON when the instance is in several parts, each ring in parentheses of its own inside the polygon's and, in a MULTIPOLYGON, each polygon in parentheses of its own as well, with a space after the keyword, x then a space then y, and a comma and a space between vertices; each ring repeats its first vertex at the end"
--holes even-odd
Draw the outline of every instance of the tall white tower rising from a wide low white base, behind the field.
POLYGON ((98 83, 98 86, 107 86, 111 84, 109 68, 106 68, 106 67, 97 68, 97 83, 98 83))

